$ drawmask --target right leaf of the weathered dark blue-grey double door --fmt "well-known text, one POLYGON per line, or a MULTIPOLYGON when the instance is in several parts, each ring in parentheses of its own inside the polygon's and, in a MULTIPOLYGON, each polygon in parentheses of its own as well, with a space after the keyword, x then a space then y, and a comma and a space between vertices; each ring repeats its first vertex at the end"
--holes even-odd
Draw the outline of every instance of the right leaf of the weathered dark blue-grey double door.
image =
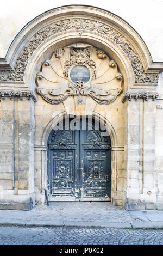
POLYGON ((80 131, 82 149, 80 155, 84 161, 82 173, 82 193, 80 200, 110 200, 108 196, 108 150, 99 131, 80 131))

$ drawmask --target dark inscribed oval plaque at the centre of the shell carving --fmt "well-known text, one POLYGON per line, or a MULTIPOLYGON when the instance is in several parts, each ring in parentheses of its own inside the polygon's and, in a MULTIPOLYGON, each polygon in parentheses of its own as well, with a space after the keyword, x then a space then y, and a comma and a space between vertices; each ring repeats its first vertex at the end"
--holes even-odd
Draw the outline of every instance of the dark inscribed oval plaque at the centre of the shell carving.
POLYGON ((90 80, 90 71, 86 66, 74 66, 70 73, 73 82, 83 81, 87 83, 90 80))

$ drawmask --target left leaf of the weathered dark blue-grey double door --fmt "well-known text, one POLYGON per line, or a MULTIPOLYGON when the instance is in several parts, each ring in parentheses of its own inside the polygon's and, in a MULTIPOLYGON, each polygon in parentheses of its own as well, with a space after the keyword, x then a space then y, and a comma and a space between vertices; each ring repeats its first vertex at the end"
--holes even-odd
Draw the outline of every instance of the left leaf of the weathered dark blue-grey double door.
POLYGON ((74 131, 54 131, 48 144, 49 201, 78 200, 77 144, 74 131), (75 171, 76 169, 76 171, 75 171))

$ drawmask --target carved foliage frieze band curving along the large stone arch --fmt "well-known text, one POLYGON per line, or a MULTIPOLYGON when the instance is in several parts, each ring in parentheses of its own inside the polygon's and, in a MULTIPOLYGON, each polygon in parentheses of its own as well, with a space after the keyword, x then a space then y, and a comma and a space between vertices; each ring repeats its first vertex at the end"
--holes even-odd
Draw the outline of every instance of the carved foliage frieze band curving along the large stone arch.
MULTIPOLYGON (((116 31, 116 29, 106 25, 102 21, 94 21, 89 19, 65 19, 41 29, 33 36, 27 46, 21 51, 20 56, 16 60, 14 70, 0 70, 0 80, 23 81, 24 71, 26 70, 28 60, 36 48, 47 38, 50 38, 51 36, 60 32, 64 33, 64 31, 72 30, 77 31, 79 35, 82 35, 83 32, 86 31, 94 31, 108 36, 108 38, 113 40, 119 47, 122 48, 124 53, 126 53, 127 57, 129 58, 135 74, 135 83, 158 83, 159 75, 145 72, 139 54, 130 44, 128 39, 126 39, 120 32, 116 31)), ((61 50, 55 52, 56 58, 60 58, 61 55, 61 50)), ((103 59, 105 58, 105 55, 99 52, 98 57, 103 59)))

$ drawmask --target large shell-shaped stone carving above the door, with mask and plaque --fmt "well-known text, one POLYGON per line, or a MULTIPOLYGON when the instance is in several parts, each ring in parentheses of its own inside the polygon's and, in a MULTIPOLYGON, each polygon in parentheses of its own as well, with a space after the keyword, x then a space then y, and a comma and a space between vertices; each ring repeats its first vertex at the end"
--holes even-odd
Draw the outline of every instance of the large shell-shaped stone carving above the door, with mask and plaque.
POLYGON ((77 105, 84 105, 84 97, 90 96, 97 103, 106 105, 121 93, 122 81, 117 64, 103 51, 92 46, 67 46, 62 51, 57 49, 52 58, 43 63, 41 72, 36 75, 36 92, 51 104, 61 103, 68 96, 77 96, 77 105), (56 57, 56 52, 62 52, 62 57, 56 57))

